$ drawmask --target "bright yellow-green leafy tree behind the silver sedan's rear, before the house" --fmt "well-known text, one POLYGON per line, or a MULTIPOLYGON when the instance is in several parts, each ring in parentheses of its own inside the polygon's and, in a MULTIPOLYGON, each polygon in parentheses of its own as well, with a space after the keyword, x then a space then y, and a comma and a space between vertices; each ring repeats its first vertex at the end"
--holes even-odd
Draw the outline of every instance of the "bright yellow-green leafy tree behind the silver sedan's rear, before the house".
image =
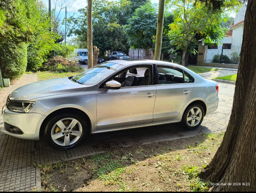
MULTIPOLYGON (((220 10, 209 9, 201 3, 203 1, 170 0, 169 6, 174 10, 174 23, 170 24, 169 39, 175 50, 183 50, 183 58, 186 60, 189 53, 195 52, 198 40, 204 40, 208 45, 220 44, 228 30, 224 27, 228 19, 227 9, 237 6, 237 3, 228 4, 232 0, 226 0, 220 10)), ((185 65, 185 61, 183 61, 185 65)))

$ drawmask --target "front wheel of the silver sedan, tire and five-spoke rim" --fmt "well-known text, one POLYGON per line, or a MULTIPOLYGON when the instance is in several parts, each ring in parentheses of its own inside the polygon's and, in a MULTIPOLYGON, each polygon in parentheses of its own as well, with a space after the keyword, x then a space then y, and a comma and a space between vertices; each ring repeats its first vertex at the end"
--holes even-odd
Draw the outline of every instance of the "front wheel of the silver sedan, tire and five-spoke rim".
POLYGON ((77 146, 87 133, 87 124, 76 114, 62 114, 53 117, 45 130, 46 142, 58 150, 77 146))

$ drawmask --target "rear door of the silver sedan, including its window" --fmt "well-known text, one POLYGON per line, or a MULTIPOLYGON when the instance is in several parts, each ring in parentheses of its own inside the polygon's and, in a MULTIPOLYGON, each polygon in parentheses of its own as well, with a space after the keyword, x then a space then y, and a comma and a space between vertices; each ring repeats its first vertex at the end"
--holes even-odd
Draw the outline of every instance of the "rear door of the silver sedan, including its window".
POLYGON ((176 118, 194 89, 194 78, 182 70, 158 66, 154 122, 176 118))

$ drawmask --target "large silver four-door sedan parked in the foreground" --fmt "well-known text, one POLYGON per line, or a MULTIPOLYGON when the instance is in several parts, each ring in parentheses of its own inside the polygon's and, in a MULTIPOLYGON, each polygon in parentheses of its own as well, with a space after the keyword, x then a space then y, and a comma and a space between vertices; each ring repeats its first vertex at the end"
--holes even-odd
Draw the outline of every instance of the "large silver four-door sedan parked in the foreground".
POLYGON ((27 84, 3 108, 5 134, 45 137, 64 150, 97 134, 181 122, 194 130, 218 108, 219 87, 189 69, 157 60, 111 60, 81 74, 27 84))

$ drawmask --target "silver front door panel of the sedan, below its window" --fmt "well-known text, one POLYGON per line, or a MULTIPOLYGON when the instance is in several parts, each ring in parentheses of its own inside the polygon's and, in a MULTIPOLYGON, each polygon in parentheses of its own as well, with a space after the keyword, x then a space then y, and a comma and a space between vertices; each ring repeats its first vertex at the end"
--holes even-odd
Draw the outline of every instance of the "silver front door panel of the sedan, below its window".
POLYGON ((98 91, 98 130, 153 122, 156 86, 98 91))

